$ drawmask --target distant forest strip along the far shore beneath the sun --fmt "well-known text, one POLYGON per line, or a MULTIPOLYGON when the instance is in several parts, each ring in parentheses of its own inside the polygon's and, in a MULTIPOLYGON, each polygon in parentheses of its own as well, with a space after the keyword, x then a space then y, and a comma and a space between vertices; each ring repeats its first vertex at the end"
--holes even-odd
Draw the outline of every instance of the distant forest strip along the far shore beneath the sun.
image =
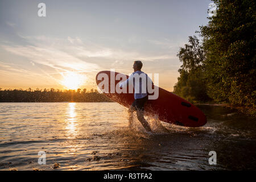
POLYGON ((98 93, 96 89, 89 92, 86 89, 77 90, 2 90, 0 88, 0 102, 112 102, 107 96, 98 93))

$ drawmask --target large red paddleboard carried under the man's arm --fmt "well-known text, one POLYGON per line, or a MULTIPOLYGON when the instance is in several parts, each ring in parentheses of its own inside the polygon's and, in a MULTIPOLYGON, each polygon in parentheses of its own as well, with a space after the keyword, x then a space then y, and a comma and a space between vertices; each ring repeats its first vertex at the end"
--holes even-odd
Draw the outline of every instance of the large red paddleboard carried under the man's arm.
MULTIPOLYGON (((110 71, 101 71, 97 73, 96 82, 99 85, 104 78, 98 78, 100 73, 105 73, 108 75, 108 85, 109 90, 110 86, 114 84, 118 84, 120 80, 111 80, 110 81, 110 71)), ((117 76, 117 72, 112 72, 112 74, 117 76)), ((129 76, 126 76, 126 79, 129 76)), ((125 80, 122 80, 123 82, 125 80)), ((156 86, 155 86, 156 87, 156 86)), ((101 90, 104 88, 100 88, 101 90)), ((104 93, 114 102, 118 102, 125 107, 130 107, 134 101, 134 94, 133 93, 104 93)), ((175 94, 168 92, 162 88, 159 88, 159 97, 156 100, 148 100, 144 106, 145 114, 150 115, 158 115, 160 121, 172 123, 174 125, 179 126, 188 126, 188 127, 199 127, 205 125, 207 123, 207 118, 205 117, 204 113, 197 108, 195 105, 191 104, 190 102, 184 100, 183 98, 176 96, 175 94)))

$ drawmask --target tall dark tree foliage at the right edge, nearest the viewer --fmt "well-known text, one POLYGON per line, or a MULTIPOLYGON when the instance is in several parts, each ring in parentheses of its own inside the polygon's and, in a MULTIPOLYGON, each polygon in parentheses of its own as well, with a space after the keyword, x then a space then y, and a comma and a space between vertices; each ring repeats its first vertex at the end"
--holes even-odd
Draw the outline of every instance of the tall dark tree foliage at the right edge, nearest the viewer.
POLYGON ((213 2, 217 16, 200 27, 208 94, 216 101, 255 107, 255 1, 213 2))

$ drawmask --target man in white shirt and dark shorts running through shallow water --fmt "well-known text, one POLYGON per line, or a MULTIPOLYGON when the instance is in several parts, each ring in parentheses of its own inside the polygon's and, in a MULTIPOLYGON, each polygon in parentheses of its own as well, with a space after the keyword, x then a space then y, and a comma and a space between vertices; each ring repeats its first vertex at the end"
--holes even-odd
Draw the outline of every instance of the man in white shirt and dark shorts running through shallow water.
MULTIPOLYGON (((119 84, 120 88, 123 88, 131 83, 133 81, 133 87, 134 87, 134 102, 130 106, 129 112, 129 122, 131 125, 133 112, 137 111, 137 118, 142 123, 143 127, 147 130, 152 132, 150 129, 150 126, 148 125, 148 122, 146 119, 144 119, 143 113, 144 113, 144 104, 148 100, 148 94, 147 94, 147 82, 152 82, 150 77, 147 76, 146 73, 141 71, 142 68, 142 61, 134 61, 133 69, 134 72, 131 74, 131 76, 121 84, 119 84)), ((152 84, 152 86, 154 86, 152 84)))

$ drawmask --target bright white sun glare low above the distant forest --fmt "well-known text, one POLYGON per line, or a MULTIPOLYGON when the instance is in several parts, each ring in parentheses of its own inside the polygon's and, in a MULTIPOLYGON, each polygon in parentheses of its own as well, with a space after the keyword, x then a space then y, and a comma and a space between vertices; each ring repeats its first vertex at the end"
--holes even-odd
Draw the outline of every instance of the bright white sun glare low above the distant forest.
POLYGON ((75 90, 84 84, 85 78, 84 75, 68 72, 66 75, 63 75, 63 80, 60 83, 67 89, 75 90))

